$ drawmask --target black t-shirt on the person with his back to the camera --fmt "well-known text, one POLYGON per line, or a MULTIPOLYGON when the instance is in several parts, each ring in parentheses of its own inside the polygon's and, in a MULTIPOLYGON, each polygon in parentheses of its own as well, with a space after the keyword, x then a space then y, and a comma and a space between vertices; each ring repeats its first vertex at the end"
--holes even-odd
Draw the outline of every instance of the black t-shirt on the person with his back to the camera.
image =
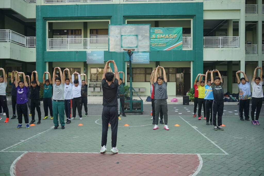
POLYGON ((117 88, 118 80, 116 78, 110 85, 108 85, 105 78, 102 79, 103 106, 118 106, 117 88))

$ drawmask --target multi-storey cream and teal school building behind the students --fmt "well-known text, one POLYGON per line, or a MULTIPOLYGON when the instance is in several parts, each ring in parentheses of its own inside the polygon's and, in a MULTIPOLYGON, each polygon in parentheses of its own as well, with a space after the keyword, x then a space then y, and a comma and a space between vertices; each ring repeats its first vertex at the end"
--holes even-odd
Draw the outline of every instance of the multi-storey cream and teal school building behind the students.
MULTIPOLYGON (((218 69, 224 91, 238 93, 235 72, 249 80, 264 61, 264 0, 0 0, 0 67, 51 74, 56 66, 100 82, 105 64, 87 64, 86 51, 104 51, 129 81, 124 53, 108 51, 109 24, 182 27, 182 50, 150 51, 149 64, 132 64, 133 87, 150 94, 150 74, 167 73, 168 95, 182 96, 198 73, 218 69)), ((258 72, 259 75, 259 72, 258 72)), ((129 85, 129 82, 127 82, 129 85)), ((96 84, 94 84, 96 85, 96 84)), ((11 87, 11 85, 10 85, 11 87)), ((7 92, 11 91, 8 88, 7 92)), ((91 88, 91 87, 90 87, 91 88)), ((89 89, 99 95, 101 89, 89 89)))

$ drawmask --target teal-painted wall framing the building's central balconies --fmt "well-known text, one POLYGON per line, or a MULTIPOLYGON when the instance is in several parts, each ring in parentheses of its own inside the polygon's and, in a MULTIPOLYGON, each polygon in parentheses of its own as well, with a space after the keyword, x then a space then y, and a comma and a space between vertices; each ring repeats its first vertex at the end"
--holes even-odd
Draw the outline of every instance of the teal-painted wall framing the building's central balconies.
MULTIPOLYGON (((151 51, 150 61, 194 61, 193 78, 203 71, 203 3, 74 4, 36 6, 36 70, 43 73, 46 61, 86 61, 86 51, 46 51, 46 21, 103 20, 125 24, 126 19, 193 19, 193 50, 151 51), (153 10, 155 9, 155 10, 153 10), (67 12, 67 13, 66 13, 67 12)), ((123 53, 105 51, 105 61, 113 59, 124 70, 123 53)), ((193 80, 194 81, 194 80, 193 80)))

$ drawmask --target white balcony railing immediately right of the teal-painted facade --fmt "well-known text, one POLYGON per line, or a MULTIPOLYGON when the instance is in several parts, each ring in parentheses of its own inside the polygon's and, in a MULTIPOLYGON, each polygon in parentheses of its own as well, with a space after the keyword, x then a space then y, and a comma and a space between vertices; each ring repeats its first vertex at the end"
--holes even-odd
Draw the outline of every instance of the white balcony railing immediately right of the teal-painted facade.
POLYGON ((239 37, 204 37, 204 48, 238 48, 239 37))

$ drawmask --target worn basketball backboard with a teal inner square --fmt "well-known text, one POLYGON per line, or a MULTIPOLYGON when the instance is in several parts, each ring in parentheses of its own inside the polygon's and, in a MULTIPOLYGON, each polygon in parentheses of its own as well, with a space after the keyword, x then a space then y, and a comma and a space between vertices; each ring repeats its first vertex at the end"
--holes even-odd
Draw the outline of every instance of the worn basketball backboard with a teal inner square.
POLYGON ((108 30, 110 52, 120 53, 123 49, 150 51, 150 24, 109 25, 108 30))

